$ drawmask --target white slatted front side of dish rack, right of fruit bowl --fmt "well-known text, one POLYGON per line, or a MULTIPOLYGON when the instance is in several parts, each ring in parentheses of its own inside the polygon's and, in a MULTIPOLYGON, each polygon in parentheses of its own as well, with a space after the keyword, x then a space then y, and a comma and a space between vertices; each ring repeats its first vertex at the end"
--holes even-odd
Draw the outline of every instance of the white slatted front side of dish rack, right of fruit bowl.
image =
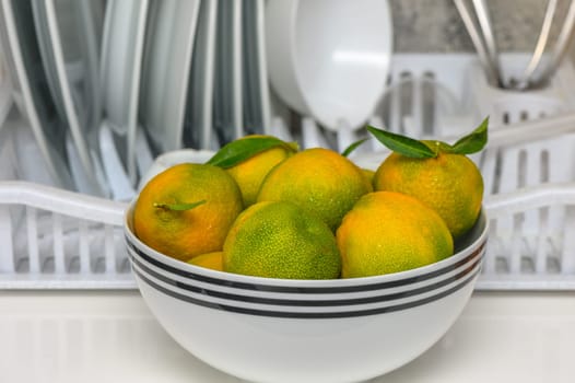
POLYGON ((478 289, 575 289, 575 183, 492 196, 490 240, 478 289))

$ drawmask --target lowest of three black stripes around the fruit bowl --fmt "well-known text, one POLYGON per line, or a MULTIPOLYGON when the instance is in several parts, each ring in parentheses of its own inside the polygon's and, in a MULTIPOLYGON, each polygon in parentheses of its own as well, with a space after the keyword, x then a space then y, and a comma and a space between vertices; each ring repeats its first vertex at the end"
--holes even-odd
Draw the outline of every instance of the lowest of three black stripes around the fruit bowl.
POLYGON ((463 288, 465 286, 473 281, 474 278, 478 276, 480 269, 481 269, 480 267, 477 267, 473 272, 470 272, 465 279, 462 279, 459 283, 453 286, 451 288, 437 292, 436 294, 432 294, 432 295, 419 299, 419 300, 398 303, 398 304, 388 305, 384 307, 375 307, 375 309, 357 310, 357 311, 336 311, 336 312, 292 312, 292 311, 277 311, 277 310, 259 310, 259 309, 253 309, 253 307, 234 306, 234 305, 228 305, 228 304, 223 304, 223 303, 207 302, 203 300, 196 299, 193 297, 178 293, 163 286, 160 286, 159 283, 152 281, 150 278, 148 278, 146 276, 138 271, 137 269, 134 269, 134 272, 137 277, 140 279, 140 282, 146 283, 152 289, 165 295, 172 297, 174 299, 177 299, 184 302, 188 302, 191 304, 196 304, 199 306, 209 307, 213 310, 222 310, 222 311, 227 311, 232 313, 248 314, 248 315, 313 320, 313 318, 341 318, 341 317, 378 315, 378 314, 391 313, 391 312, 401 311, 401 310, 408 310, 408 309, 416 307, 416 306, 424 305, 427 303, 432 303, 442 298, 450 295, 451 293, 460 290, 461 288, 463 288))

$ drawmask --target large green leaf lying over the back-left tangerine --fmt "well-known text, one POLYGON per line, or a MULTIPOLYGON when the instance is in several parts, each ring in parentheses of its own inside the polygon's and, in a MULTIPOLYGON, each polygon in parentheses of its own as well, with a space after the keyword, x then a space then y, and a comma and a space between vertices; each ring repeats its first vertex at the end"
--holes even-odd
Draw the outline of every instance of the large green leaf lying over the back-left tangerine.
POLYGON ((284 147, 293 152, 298 150, 297 143, 285 142, 275 137, 248 137, 223 146, 207 163, 228 169, 273 147, 284 147))

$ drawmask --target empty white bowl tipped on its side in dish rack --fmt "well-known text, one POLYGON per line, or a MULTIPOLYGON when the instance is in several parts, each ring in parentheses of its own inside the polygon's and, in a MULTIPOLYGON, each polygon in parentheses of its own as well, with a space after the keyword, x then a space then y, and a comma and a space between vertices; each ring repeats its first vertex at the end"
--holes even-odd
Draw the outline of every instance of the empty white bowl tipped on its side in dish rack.
POLYGON ((385 0, 270 0, 266 50, 271 84, 330 129, 359 127, 385 91, 392 46, 385 0))

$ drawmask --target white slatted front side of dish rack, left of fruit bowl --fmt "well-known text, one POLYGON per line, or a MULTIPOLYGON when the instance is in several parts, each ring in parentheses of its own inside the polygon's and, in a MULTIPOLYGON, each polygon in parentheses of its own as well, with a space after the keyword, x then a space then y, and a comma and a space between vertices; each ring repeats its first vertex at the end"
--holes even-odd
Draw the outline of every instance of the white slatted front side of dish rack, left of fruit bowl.
POLYGON ((124 208, 38 184, 0 183, 0 288, 133 288, 124 208))

